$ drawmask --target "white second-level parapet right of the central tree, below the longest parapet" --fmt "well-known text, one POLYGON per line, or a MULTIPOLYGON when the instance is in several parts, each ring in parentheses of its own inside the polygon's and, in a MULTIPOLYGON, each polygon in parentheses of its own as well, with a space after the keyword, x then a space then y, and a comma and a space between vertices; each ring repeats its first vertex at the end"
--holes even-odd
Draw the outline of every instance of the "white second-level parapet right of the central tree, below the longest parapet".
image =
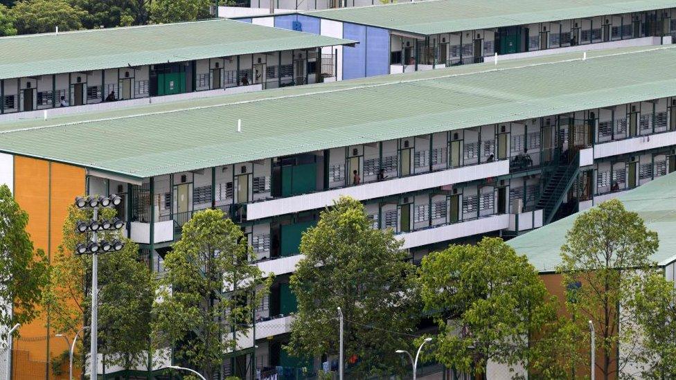
POLYGON ((404 240, 402 248, 413 248, 416 246, 425 246, 427 244, 459 239, 460 237, 504 230, 508 227, 509 215, 501 214, 470 221, 461 221, 445 226, 433 226, 432 228, 425 228, 424 230, 417 230, 410 233, 402 233, 401 235, 397 235, 397 238, 404 240))

